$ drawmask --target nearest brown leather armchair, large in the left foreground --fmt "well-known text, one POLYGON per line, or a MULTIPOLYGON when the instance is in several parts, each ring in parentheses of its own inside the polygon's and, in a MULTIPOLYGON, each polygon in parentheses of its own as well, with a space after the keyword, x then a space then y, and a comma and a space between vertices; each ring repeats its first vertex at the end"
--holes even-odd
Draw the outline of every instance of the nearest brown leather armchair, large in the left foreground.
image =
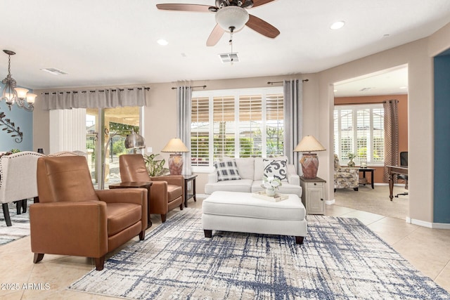
POLYGON ((147 228, 147 190, 94 190, 84 156, 37 161, 39 202, 30 205, 34 263, 44 254, 92 257, 102 270, 105 254, 147 228))

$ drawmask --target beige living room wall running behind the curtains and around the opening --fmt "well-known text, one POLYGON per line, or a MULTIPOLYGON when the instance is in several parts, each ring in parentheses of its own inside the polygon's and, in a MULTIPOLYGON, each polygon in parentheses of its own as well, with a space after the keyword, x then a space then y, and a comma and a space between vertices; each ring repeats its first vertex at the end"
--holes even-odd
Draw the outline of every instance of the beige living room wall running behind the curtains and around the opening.
MULTIPOLYGON (((255 77, 194 81, 207 85, 208 90, 267 86, 267 81, 300 78, 304 83, 304 134, 314 135, 327 149, 319 152, 319 174, 326 179, 326 200, 333 200, 333 83, 364 74, 408 64, 409 67, 409 216, 432 222, 433 204, 433 76, 432 56, 450 48, 450 25, 426 39, 354 60, 316 74, 285 77, 255 77)), ((174 83, 146 84, 150 86, 145 107, 144 137, 153 152, 160 152, 169 138, 176 135, 176 92, 174 83)), ((38 95, 39 95, 39 91, 38 95)), ((49 114, 39 110, 39 98, 34 110, 33 148, 49 147, 49 114)), ((165 155, 166 158, 168 155, 165 155)), ((198 193, 203 193, 206 174, 198 177, 198 193)))

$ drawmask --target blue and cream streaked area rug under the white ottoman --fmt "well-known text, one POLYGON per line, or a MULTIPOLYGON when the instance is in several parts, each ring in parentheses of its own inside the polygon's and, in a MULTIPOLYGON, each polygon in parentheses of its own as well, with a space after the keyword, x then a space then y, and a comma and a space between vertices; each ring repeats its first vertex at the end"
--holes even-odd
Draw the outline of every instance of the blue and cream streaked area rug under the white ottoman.
POLYGON ((450 299, 357 219, 308 216, 294 237, 213 232, 185 209, 70 289, 126 299, 450 299))

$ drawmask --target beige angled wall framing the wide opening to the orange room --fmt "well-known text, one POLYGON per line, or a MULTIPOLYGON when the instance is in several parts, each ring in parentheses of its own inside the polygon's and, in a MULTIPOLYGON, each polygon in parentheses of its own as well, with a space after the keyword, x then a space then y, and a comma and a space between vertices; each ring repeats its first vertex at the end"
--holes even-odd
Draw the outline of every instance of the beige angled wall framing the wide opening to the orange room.
MULTIPOLYGON (((413 221, 432 223, 433 205, 433 60, 435 55, 450 48, 450 25, 426 39, 376 53, 373 56, 354 60, 320 73, 319 101, 324 110, 321 119, 333 119, 330 107, 332 96, 330 84, 359 77, 363 74, 408 64, 409 67, 409 217, 413 221), (445 43, 443 41, 446 41, 445 43), (328 107, 328 110, 326 108, 328 107)), ((333 124, 321 130, 323 143, 331 149, 333 124)), ((328 152, 326 168, 319 169, 319 176, 328 182, 333 180, 332 153, 328 152)), ((321 160, 322 162, 323 160, 321 160)), ((333 199, 333 190, 328 185, 327 198, 333 199)))

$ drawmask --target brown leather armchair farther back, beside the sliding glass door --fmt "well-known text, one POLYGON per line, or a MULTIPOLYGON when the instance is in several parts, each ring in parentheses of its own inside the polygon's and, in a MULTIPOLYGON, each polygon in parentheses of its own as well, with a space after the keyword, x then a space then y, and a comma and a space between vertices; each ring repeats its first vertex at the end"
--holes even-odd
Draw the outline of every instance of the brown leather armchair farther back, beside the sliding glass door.
POLYGON ((127 181, 152 181, 150 193, 150 214, 160 214, 161 221, 166 221, 167 212, 175 207, 183 210, 184 177, 181 175, 148 175, 146 163, 141 154, 126 154, 119 157, 120 178, 127 181))

